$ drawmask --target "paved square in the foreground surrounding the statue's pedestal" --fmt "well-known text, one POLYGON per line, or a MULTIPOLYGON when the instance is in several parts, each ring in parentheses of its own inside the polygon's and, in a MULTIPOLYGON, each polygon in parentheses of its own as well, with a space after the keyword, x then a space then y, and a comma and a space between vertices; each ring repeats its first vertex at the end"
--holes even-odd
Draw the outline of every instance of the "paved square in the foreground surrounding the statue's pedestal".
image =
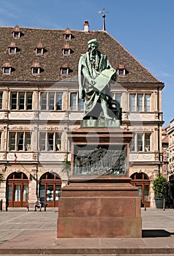
POLYGON ((57 218, 58 208, 0 211, 0 255, 174 255, 174 209, 142 208, 142 238, 56 238, 57 218))

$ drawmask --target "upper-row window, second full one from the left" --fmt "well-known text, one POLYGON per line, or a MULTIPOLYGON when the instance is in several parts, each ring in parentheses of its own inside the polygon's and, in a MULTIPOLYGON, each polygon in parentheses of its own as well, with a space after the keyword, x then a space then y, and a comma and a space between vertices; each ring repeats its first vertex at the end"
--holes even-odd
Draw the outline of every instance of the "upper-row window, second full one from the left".
POLYGON ((62 110, 63 94, 59 92, 41 92, 40 109, 41 110, 62 110))

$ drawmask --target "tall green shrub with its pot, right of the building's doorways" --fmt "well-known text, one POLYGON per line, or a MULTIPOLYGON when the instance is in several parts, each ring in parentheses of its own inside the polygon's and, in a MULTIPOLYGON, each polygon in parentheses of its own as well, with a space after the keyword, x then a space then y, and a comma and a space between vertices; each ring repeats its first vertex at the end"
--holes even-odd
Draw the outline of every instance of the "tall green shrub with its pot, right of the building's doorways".
POLYGON ((156 208, 163 208, 164 197, 166 195, 167 180, 161 173, 153 181, 154 199, 156 208))

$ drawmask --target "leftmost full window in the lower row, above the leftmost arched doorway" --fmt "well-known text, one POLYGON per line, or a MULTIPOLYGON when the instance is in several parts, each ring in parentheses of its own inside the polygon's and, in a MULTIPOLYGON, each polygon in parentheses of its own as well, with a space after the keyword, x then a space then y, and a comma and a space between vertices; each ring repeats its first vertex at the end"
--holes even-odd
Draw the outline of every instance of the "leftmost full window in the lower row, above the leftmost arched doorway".
POLYGON ((31 151, 30 132, 10 132, 9 133, 10 151, 31 151))

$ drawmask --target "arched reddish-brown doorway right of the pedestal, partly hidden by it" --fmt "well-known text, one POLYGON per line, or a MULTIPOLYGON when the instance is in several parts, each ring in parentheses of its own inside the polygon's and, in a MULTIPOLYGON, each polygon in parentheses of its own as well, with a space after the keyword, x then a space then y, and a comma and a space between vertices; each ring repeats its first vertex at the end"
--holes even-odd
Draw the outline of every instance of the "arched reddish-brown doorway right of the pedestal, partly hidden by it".
POLYGON ((133 173, 131 184, 138 187, 141 207, 150 207, 150 180, 145 173, 133 173))

